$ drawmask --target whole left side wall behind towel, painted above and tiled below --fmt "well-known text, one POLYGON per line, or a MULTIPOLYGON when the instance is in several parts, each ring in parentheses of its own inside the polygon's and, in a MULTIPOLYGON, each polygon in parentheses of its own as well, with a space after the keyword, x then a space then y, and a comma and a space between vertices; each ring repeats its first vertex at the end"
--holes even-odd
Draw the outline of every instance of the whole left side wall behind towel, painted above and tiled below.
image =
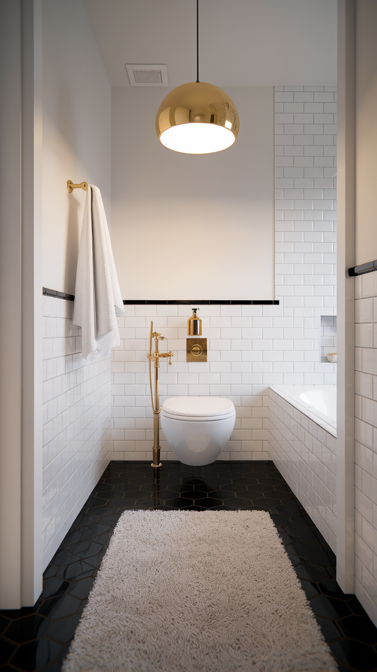
MULTIPOLYGON (((43 286, 75 293, 85 192, 97 185, 110 220, 111 87, 81 0, 43 1, 43 286)), ((42 299, 42 286, 40 286, 42 299)), ((72 302, 44 296, 43 567, 106 468, 110 359, 81 356, 72 302)), ((41 316, 42 319, 42 316, 41 316)), ((41 355, 42 356, 42 355, 41 355)))

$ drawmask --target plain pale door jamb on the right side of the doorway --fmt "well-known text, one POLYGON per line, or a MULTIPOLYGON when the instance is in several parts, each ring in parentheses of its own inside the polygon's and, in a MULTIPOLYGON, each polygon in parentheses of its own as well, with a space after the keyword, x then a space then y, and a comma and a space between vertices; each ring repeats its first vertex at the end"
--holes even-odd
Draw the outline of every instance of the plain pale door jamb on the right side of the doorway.
POLYGON ((355 590, 355 0, 338 2, 337 582, 355 590))

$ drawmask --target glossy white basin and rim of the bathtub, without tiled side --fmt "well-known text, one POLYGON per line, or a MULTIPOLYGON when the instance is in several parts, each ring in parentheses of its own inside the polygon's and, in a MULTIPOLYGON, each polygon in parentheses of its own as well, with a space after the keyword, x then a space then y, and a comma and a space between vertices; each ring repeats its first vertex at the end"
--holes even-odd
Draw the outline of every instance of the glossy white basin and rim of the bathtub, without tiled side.
POLYGON ((271 385, 271 390, 336 437, 336 385, 271 385))

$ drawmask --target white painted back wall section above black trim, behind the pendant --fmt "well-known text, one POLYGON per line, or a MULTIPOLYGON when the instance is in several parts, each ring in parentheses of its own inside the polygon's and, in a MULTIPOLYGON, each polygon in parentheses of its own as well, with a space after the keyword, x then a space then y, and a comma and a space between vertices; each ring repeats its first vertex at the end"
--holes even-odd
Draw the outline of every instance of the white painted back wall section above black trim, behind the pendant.
POLYGON ((274 298, 274 91, 225 90, 237 142, 198 156, 157 139, 167 89, 113 88, 112 244, 125 299, 274 298))

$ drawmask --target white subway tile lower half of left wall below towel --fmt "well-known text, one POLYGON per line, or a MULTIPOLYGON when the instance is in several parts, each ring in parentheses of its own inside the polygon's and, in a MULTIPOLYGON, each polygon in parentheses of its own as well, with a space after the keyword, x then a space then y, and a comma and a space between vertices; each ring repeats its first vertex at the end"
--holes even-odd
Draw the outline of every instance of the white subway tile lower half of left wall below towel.
POLYGON ((111 360, 85 362, 73 302, 43 297, 43 568, 110 461, 111 360))

